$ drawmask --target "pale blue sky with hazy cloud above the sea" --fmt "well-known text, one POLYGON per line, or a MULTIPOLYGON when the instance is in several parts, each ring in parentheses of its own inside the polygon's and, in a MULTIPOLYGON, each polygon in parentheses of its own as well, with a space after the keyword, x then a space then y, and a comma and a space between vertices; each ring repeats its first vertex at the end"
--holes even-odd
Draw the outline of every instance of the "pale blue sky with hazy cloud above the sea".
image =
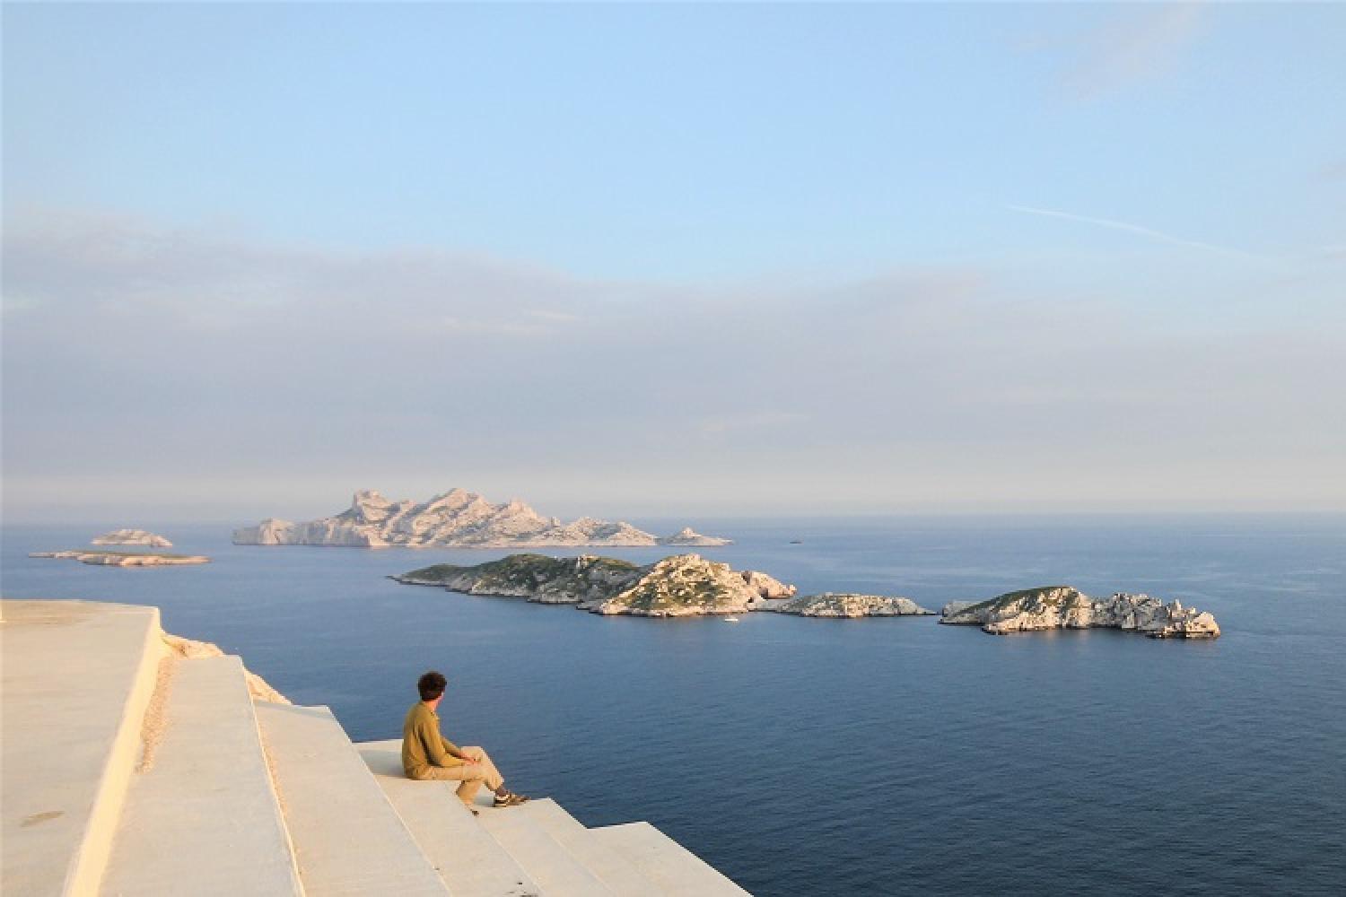
POLYGON ((3 32, 7 522, 1346 510, 1346 4, 3 32))

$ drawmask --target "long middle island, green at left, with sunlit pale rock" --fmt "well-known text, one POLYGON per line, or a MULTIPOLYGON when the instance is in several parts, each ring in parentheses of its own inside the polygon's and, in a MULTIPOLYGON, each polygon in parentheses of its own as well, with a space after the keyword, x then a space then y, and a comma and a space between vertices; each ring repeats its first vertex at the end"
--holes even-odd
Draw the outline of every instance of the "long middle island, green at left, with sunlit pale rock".
POLYGON ((806 594, 760 570, 734 570, 699 554, 639 566, 618 558, 552 558, 511 554, 472 566, 436 563, 392 577, 406 585, 450 592, 571 604, 581 611, 646 617, 735 615, 773 611, 812 617, 930 613, 909 598, 876 594, 806 594))

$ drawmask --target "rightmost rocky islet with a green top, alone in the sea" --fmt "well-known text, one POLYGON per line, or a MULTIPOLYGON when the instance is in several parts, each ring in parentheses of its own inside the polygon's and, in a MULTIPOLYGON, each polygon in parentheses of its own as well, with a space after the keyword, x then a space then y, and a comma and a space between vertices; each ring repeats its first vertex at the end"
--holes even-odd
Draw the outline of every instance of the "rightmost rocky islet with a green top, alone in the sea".
POLYGON ((1217 639, 1219 625, 1209 612, 1164 604, 1148 594, 1117 592, 1090 598, 1069 585, 1049 585, 1005 594, 979 604, 952 602, 940 623, 980 625, 983 632, 1005 635, 1040 629, 1098 627, 1141 632, 1151 639, 1217 639))

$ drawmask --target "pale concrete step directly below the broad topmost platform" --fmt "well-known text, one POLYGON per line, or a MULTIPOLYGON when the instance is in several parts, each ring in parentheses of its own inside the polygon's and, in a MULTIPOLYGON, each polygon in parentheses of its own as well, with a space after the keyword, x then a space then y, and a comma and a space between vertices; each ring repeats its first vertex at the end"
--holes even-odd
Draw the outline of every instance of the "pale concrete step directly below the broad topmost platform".
POLYGON ((300 896, 238 658, 179 660, 153 764, 131 781, 102 893, 300 896))

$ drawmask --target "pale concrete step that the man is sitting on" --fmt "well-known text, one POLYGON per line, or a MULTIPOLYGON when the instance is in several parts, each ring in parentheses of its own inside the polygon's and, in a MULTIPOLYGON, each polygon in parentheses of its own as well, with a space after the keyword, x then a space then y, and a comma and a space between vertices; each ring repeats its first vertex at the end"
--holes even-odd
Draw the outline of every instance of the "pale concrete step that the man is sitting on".
POLYGON ((413 781, 402 772, 402 742, 355 745, 374 781, 458 897, 525 897, 541 893, 514 858, 467 812, 458 783, 413 781))

